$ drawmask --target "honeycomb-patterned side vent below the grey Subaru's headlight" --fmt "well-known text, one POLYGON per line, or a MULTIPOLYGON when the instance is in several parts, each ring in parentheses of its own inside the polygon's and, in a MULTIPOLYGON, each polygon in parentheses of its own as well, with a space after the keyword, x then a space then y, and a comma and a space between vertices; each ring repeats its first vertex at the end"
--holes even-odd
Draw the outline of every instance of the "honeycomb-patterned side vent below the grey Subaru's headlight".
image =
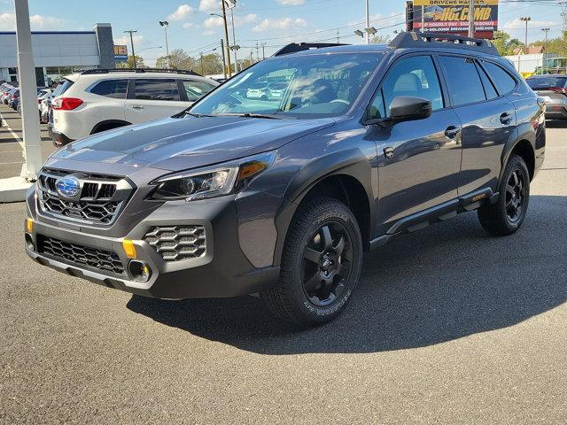
POLYGON ((198 225, 151 228, 144 241, 166 261, 198 259, 206 253, 205 228, 198 225))

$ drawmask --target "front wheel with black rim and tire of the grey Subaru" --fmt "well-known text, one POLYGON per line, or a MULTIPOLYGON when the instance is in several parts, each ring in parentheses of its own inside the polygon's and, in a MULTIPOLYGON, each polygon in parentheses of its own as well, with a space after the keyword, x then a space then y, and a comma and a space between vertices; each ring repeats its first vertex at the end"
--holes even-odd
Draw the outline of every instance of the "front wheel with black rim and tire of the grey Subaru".
POLYGON ((361 230, 353 213, 337 199, 317 198, 300 206, 291 220, 280 279, 260 295, 281 319, 319 325, 345 309, 361 266, 361 230))

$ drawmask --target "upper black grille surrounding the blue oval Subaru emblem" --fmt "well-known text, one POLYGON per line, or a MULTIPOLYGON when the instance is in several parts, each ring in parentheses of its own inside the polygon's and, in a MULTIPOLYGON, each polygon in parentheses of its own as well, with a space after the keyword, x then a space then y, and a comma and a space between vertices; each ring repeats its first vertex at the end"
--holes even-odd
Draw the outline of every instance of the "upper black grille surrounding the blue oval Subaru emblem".
POLYGON ((38 176, 37 188, 44 213, 95 225, 112 224, 132 193, 132 186, 120 177, 45 168, 38 176), (75 197, 58 193, 57 182, 67 175, 80 182, 80 192, 75 197))

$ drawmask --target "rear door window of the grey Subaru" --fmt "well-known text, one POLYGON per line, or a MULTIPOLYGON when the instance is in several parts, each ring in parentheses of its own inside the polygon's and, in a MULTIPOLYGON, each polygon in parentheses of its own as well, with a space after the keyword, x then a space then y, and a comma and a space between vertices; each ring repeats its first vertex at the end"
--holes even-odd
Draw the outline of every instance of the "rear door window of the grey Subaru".
POLYGON ((477 66, 471 58, 440 56, 439 62, 447 76, 447 87, 453 105, 472 104, 486 100, 477 66))

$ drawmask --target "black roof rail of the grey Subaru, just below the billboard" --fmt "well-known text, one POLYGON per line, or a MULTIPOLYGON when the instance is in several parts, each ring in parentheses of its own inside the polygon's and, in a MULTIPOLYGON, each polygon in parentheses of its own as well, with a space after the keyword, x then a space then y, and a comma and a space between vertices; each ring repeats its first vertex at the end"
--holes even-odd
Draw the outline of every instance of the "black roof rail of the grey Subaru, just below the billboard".
POLYGON ((416 33, 409 31, 397 35, 388 46, 393 49, 427 49, 430 47, 473 49, 489 55, 500 55, 490 40, 462 37, 461 35, 452 34, 416 33))

